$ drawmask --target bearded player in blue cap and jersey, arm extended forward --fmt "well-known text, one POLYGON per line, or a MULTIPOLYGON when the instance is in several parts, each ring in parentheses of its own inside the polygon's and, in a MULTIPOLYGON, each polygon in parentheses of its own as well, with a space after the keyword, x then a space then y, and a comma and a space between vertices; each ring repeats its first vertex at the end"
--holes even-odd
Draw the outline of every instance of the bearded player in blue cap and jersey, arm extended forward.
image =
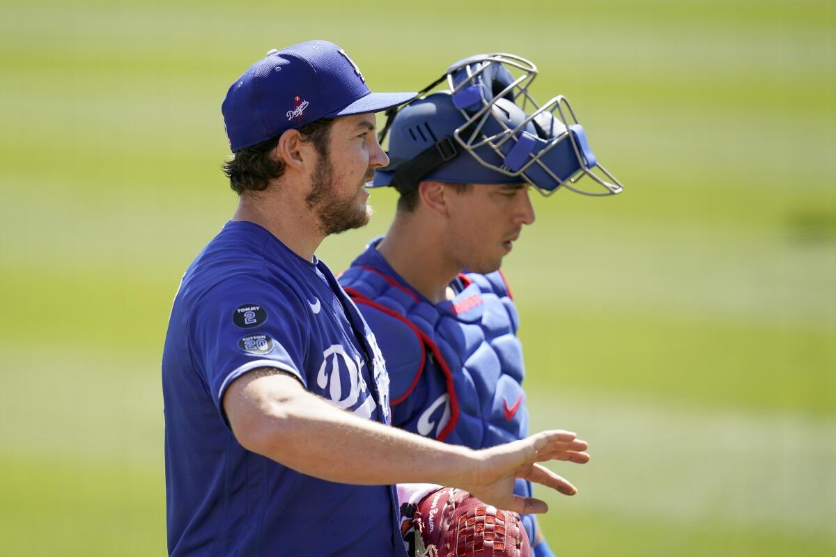
POLYGON ((574 433, 474 451, 389 427, 375 335, 314 255, 369 219, 364 183, 389 162, 374 113, 414 97, 370 93, 324 41, 271 51, 229 88, 239 203, 182 278, 162 358, 169 554, 400 556, 396 482, 516 512, 546 509, 517 478, 574 493, 538 464, 586 462, 574 433))

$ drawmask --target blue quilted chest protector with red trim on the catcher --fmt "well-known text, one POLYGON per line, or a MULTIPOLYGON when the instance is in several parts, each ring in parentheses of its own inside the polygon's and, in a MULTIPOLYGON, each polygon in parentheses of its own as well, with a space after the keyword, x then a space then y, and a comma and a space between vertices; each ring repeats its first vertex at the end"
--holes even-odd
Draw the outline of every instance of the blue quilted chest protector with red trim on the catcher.
POLYGON ((385 357, 393 424, 471 448, 526 437, 523 347, 501 272, 461 275, 464 288, 434 305, 376 251, 364 256, 340 282, 385 357))

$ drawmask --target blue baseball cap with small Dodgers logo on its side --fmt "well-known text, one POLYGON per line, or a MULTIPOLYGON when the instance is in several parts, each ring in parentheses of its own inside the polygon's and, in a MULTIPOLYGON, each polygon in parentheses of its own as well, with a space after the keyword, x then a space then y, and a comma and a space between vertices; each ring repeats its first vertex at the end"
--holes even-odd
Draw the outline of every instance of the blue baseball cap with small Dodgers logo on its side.
POLYGON ((328 41, 271 50, 235 80, 221 112, 233 153, 320 118, 390 109, 416 93, 372 93, 357 64, 328 41))

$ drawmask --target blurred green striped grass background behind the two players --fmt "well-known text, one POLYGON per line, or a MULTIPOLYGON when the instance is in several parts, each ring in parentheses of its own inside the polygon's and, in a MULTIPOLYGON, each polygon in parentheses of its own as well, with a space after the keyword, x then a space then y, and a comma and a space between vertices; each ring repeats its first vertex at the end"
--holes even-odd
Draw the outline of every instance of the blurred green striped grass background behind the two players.
POLYGON ((0 554, 165 554, 161 348, 235 205, 221 100, 311 38, 378 90, 531 58, 626 186, 536 199, 505 262, 533 428, 594 455, 554 467, 555 553, 836 554, 832 1, 56 1, 0 32, 0 554))

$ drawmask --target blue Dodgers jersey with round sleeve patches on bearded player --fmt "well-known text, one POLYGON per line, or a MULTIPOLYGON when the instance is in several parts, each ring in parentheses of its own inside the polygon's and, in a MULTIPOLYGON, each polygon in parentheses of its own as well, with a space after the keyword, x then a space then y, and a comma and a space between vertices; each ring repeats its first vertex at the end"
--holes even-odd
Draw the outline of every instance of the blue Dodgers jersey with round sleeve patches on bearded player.
POLYGON ((390 423, 383 357, 328 267, 229 222, 183 276, 166 336, 169 554, 404 554, 392 486, 312 478, 237 443, 223 395, 261 367, 390 423))

